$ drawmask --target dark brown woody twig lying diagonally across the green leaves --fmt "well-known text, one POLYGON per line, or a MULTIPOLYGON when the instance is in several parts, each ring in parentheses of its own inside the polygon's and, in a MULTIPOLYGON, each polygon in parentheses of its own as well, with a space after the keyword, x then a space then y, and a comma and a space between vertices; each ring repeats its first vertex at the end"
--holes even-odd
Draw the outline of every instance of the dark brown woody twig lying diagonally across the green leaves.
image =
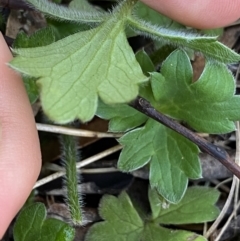
POLYGON ((194 132, 190 131, 186 127, 182 126, 173 119, 163 115, 162 113, 155 110, 152 105, 142 97, 137 97, 131 104, 131 107, 142 112, 143 114, 151 117, 152 119, 160 122, 161 124, 169 127, 177 133, 183 135, 193 143, 195 143, 200 150, 213 156, 215 159, 220 161, 229 171, 240 178, 240 166, 231 160, 227 152, 218 146, 209 143, 202 137, 198 136, 194 132))

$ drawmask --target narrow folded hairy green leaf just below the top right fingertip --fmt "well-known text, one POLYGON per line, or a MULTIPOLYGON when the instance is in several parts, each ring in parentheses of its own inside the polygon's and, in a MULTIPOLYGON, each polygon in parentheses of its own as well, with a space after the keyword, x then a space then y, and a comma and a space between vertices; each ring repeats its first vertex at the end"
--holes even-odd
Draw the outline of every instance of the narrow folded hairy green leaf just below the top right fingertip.
POLYGON ((192 30, 175 30, 153 25, 150 22, 138 19, 135 16, 128 17, 128 23, 133 30, 154 40, 172 44, 183 48, 190 48, 203 53, 206 57, 223 63, 240 61, 240 55, 219 43, 216 37, 202 36, 192 30))

